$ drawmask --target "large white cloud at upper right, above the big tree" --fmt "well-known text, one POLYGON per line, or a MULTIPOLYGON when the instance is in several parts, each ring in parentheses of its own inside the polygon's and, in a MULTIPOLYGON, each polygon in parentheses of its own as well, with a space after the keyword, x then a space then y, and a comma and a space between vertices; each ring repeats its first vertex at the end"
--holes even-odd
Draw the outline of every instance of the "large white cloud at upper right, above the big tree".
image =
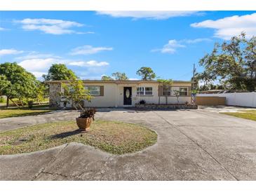
POLYGON ((230 39, 231 36, 236 36, 241 32, 245 32, 247 37, 256 36, 256 13, 195 22, 191 24, 191 27, 215 29, 214 36, 220 39, 230 39))

